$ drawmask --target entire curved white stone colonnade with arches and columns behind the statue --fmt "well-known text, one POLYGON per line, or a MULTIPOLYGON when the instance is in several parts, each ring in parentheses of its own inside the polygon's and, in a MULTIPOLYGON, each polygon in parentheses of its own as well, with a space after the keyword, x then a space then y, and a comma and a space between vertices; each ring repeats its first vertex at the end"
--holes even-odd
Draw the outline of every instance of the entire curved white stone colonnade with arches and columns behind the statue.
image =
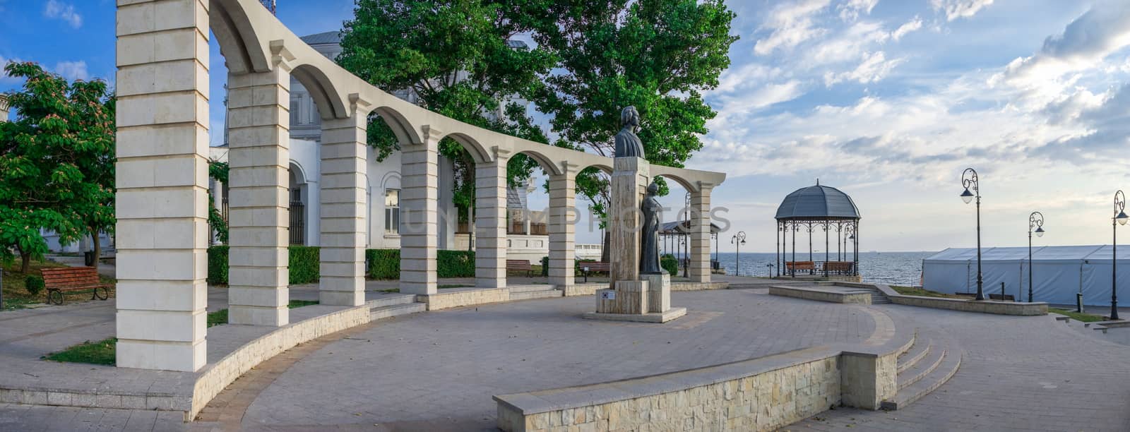
MULTIPOLYGON (((209 31, 229 74, 231 322, 289 322, 290 76, 322 116, 321 303, 365 301, 365 128, 374 112, 402 149, 401 292, 436 293, 437 149, 447 137, 476 163, 477 285, 506 284, 506 162, 519 153, 549 174, 549 282, 562 290, 574 284, 576 174, 610 171, 611 158, 399 100, 318 53, 257 0, 118 0, 116 23, 118 365, 195 371, 206 363, 209 31)), ((651 170, 692 192, 692 278, 710 280, 710 190, 725 174, 651 170)))

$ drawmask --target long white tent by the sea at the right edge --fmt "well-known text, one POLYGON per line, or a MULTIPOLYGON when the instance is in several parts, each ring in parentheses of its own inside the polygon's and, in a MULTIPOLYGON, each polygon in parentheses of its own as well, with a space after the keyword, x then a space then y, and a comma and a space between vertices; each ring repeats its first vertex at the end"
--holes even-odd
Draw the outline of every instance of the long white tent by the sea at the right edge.
MULTIPOLYGON (((1130 245, 1119 251, 1118 292, 1130 294, 1130 245)), ((1110 245, 1032 248, 1033 300, 1075 304, 1076 293, 1089 305, 1111 304, 1110 245)), ((981 250, 985 294, 1005 293, 1028 300, 1028 248, 981 250)), ((977 250, 950 248, 922 260, 922 285, 940 293, 974 293, 977 290, 977 250)), ((1123 297, 1130 304, 1130 297, 1123 297)))

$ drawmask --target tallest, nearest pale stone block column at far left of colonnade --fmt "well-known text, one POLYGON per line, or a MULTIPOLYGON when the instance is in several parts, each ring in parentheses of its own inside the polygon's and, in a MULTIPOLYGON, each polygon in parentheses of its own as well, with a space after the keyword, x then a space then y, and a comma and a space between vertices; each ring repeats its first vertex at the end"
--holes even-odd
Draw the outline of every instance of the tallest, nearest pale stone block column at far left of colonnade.
POLYGON ((119 2, 118 365, 195 371, 208 299, 208 11, 119 2), (176 19, 158 19, 176 17, 176 19))

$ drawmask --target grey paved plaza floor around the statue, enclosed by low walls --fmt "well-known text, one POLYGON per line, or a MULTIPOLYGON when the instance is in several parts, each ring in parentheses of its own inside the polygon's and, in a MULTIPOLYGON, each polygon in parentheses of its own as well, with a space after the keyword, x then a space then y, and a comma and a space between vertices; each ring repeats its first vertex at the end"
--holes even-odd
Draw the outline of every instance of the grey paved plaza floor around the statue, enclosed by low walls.
POLYGON ((252 404, 244 426, 445 418, 493 426, 493 395, 602 382, 746 360, 875 329, 862 306, 754 291, 672 293, 668 325, 581 320, 593 299, 480 305, 403 317, 295 364, 252 404), (348 396, 346 396, 348 395, 348 396))

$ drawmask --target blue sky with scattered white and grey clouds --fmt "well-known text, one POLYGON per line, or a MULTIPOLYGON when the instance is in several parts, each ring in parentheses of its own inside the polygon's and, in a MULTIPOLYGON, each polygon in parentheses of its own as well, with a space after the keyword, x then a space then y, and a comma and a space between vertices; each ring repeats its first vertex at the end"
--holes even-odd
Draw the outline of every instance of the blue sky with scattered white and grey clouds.
MULTIPOLYGON (((279 0, 299 35, 338 29, 351 0, 279 0)), ((706 94, 719 111, 690 167, 729 180, 744 250, 773 251, 773 214, 814 184, 850 193, 862 250, 975 242, 960 173, 981 173, 983 243, 1110 242, 1114 191, 1130 189, 1130 2, 1118 0, 745 0, 732 64, 706 94)), ((0 62, 111 79, 112 0, 0 0, 0 62)), ((215 44, 214 44, 215 45, 215 44)), ((212 94, 224 83, 214 46, 212 94)), ((18 81, 0 77, 0 90, 18 81)), ((223 109, 214 104, 214 129, 223 109)), ((675 187, 666 202, 676 207, 675 187)), ((724 233, 727 243, 732 233, 724 233)), ((1130 233, 1123 234, 1130 239, 1130 233)), ((579 241, 594 241, 579 227, 579 241)), ((723 251, 732 247, 723 244, 723 251)))

